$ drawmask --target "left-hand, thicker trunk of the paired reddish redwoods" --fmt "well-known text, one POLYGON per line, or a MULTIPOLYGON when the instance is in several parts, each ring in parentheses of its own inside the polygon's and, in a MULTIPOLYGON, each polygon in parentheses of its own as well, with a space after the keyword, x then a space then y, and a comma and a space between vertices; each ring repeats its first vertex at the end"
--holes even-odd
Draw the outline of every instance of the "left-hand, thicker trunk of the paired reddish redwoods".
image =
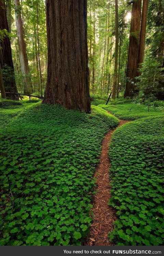
POLYGON ((141 0, 133 1, 131 32, 129 37, 129 52, 126 72, 126 88, 124 97, 133 97, 137 93, 135 77, 138 68, 139 33, 141 20, 141 0))

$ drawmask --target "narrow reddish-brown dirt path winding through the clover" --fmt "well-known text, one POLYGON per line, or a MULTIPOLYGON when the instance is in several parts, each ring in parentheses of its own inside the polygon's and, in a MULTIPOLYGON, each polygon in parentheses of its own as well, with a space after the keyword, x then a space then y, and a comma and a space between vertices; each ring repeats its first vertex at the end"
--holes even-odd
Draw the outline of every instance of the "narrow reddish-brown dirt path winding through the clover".
MULTIPOLYGON (((127 120, 120 120, 121 125, 127 123, 127 120)), ((117 128, 118 128, 117 127, 117 128)), ((115 128, 115 129, 117 129, 115 128)), ((100 164, 96 169, 94 178, 97 179, 97 191, 93 197, 93 222, 90 228, 90 234, 87 236, 84 245, 113 245, 108 240, 108 233, 114 228, 113 222, 116 220, 114 209, 108 205, 110 199, 110 159, 108 156, 109 144, 111 141, 112 133, 110 130, 104 137, 102 142, 102 150, 100 155, 100 164)))

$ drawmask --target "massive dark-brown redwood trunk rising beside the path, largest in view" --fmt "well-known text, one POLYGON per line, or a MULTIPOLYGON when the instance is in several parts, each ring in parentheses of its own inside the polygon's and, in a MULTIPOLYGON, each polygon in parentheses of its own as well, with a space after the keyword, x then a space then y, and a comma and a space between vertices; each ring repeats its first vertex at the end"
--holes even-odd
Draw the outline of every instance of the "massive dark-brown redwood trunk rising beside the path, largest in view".
POLYGON ((91 110, 86 16, 86 0, 46 0, 48 69, 43 103, 91 110))

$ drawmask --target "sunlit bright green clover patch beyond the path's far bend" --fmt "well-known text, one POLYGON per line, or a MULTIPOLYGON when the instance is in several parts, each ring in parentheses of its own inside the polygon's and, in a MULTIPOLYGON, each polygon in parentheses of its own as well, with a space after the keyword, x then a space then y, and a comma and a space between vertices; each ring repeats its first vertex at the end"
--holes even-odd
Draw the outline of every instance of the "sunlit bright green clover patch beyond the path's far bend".
POLYGON ((100 104, 99 107, 109 111, 110 113, 114 114, 120 119, 124 120, 135 120, 142 117, 149 117, 149 116, 157 116, 164 114, 164 108, 157 108, 150 106, 148 112, 148 106, 139 104, 139 103, 124 103, 120 104, 121 101, 118 101, 119 104, 100 104))

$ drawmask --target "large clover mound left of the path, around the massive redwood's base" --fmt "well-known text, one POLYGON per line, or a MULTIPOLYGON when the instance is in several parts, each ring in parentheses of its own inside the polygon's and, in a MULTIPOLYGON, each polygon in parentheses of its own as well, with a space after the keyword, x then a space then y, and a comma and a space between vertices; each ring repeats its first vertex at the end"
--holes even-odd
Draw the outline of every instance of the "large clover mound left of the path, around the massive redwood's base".
POLYGON ((0 129, 0 244, 81 245, 101 141, 119 120, 35 104, 0 129))

